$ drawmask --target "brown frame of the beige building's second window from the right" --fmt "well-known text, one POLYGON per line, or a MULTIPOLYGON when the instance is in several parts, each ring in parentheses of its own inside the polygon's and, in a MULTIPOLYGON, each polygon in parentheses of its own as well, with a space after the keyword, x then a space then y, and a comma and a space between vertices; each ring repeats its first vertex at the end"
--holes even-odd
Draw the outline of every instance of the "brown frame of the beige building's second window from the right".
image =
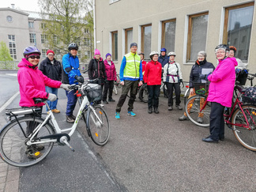
MULTIPOLYGON (((208 15, 208 17, 209 17, 209 11, 205 11, 203 13, 197 13, 197 14, 189 15, 188 31, 187 31, 187 43, 186 43, 186 62, 191 62, 190 61, 190 53, 191 53, 192 28, 193 28, 192 18, 200 17, 200 16, 203 16, 203 15, 208 15)), ((208 28, 208 24, 207 24, 207 28, 208 28)), ((207 37, 206 37, 206 39, 207 39, 207 37)), ((205 41, 205 43, 206 43, 206 41, 205 41)), ((206 46, 206 44, 205 44, 205 46, 206 46)), ((205 47, 205 49, 206 49, 206 47, 205 47)))

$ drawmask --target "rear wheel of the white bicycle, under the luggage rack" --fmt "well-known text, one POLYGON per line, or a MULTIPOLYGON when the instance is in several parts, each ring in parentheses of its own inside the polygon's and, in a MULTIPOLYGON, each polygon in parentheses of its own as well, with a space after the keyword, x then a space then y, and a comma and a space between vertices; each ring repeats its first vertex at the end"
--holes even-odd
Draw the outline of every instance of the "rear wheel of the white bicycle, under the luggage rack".
MULTIPOLYGON (((28 158, 27 145, 25 144, 28 137, 25 137, 27 123, 35 123, 36 126, 43 123, 44 119, 33 117, 21 117, 14 119, 4 126, 0 133, 0 155, 2 160, 7 164, 13 165, 15 167, 28 167, 34 164, 38 164, 51 152, 54 145, 53 142, 40 144, 44 146, 44 149, 40 151, 40 157, 37 159, 28 158), (18 121, 17 121, 18 120, 18 121), (19 126, 20 123, 21 127, 19 126), (22 132, 22 130, 24 132, 22 132)), ((43 137, 46 135, 55 134, 55 130, 50 123, 46 123, 38 132, 37 137, 43 137)), ((36 154, 36 150, 34 150, 36 154)), ((38 153, 38 152, 37 152, 38 153)))

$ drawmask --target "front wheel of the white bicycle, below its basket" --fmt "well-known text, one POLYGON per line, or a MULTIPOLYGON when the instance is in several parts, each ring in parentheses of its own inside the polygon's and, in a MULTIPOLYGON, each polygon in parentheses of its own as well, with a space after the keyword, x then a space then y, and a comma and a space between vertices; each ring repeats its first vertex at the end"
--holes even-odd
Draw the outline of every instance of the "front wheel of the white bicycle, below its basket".
POLYGON ((106 145, 109 139, 110 125, 107 118, 107 113, 104 111, 104 109, 100 106, 95 106, 93 109, 89 108, 86 120, 88 131, 90 132, 88 135, 91 136, 92 141, 96 145, 106 145), (99 119, 97 119, 94 112, 96 115, 98 115, 102 124, 100 123, 99 119))

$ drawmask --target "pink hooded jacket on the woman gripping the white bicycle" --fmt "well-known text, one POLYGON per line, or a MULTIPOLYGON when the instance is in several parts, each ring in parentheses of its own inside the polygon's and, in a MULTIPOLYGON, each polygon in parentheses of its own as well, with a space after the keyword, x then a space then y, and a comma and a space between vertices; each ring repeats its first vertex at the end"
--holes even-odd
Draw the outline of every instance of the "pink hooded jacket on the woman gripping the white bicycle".
POLYGON ((37 66, 34 68, 32 66, 25 58, 22 58, 18 64, 20 70, 17 72, 17 79, 20 85, 21 107, 43 106, 43 103, 35 104, 33 98, 47 99, 48 93, 45 92, 45 86, 59 88, 62 85, 60 81, 54 81, 45 76, 37 66))

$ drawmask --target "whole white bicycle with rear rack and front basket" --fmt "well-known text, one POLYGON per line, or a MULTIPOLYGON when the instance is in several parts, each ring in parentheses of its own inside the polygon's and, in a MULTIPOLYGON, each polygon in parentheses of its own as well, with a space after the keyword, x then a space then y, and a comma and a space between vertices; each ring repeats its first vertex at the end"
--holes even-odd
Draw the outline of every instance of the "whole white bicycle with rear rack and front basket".
MULTIPOLYGON (((40 108, 6 109, 9 119, 14 119, 7 123, 0 133, 2 160, 16 167, 28 167, 43 160, 51 152, 54 144, 67 145, 74 151, 69 141, 81 117, 85 121, 88 136, 92 138, 92 141, 101 146, 107 143, 110 134, 107 114, 102 107, 93 103, 99 96, 96 92, 101 86, 96 84, 71 85, 71 88, 81 92, 84 99, 73 126, 65 130, 59 128, 51 110, 43 119, 40 117, 40 108), (30 133, 28 133, 28 125, 34 127, 30 133), (66 134, 65 132, 68 131, 70 132, 66 134)), ((35 103, 42 102, 47 105, 47 100, 42 99, 36 99, 35 103)))

